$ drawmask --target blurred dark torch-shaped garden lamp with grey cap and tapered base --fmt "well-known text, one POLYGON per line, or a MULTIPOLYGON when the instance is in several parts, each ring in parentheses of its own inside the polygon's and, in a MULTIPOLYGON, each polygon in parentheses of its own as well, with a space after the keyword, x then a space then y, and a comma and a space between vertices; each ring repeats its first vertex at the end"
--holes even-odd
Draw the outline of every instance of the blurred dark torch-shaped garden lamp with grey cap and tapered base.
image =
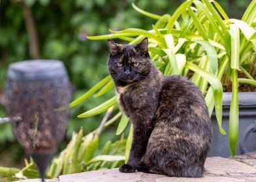
POLYGON ((6 85, 12 131, 33 157, 42 181, 52 155, 65 136, 71 87, 59 60, 25 60, 10 64, 6 85))

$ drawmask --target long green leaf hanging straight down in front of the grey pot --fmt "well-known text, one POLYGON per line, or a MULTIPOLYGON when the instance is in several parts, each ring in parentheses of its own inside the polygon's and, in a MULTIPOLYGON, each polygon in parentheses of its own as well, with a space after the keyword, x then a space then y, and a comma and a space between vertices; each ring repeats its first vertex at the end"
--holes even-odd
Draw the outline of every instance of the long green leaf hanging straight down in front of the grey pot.
POLYGON ((229 145, 231 156, 236 154, 236 144, 238 141, 239 129, 239 107, 238 107, 238 73, 236 69, 232 69, 232 98, 231 109, 229 113, 229 145))

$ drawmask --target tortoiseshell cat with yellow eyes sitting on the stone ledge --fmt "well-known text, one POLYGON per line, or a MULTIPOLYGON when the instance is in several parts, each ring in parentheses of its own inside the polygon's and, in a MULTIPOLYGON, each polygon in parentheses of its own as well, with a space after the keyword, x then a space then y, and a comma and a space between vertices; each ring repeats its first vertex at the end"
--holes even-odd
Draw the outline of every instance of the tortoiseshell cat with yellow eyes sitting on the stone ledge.
POLYGON ((108 46, 118 102, 133 123, 129 161, 120 172, 202 177, 212 128, 197 86, 159 72, 150 60, 147 38, 135 45, 108 40, 108 46))

